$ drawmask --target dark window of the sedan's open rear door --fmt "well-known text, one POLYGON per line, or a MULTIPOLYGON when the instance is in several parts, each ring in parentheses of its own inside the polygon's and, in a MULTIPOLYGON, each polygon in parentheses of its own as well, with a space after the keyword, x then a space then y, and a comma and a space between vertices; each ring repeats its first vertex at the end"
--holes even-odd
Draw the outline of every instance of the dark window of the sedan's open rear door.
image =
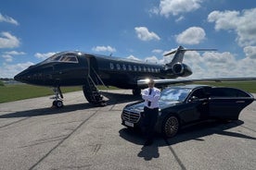
POLYGON ((244 91, 233 88, 212 88, 211 97, 250 97, 244 91))

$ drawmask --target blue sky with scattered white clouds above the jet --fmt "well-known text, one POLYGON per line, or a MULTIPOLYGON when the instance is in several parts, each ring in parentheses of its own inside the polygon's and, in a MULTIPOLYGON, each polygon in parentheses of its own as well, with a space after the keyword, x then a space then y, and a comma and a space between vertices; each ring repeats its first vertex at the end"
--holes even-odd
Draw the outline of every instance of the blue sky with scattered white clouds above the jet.
POLYGON ((0 0, 0 78, 62 51, 166 64, 179 45, 190 78, 256 77, 253 0, 0 0))

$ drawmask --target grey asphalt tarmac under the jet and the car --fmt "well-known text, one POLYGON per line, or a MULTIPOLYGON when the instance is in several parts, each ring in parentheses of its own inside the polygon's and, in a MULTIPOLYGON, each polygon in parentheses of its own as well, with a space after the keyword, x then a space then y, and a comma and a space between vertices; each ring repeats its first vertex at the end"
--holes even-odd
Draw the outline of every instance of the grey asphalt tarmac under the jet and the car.
POLYGON ((176 137, 157 136, 143 146, 138 131, 121 125, 131 91, 104 92, 105 107, 87 103, 83 91, 64 94, 65 106, 49 97, 0 103, 0 169, 208 169, 256 167, 256 102, 230 123, 204 122, 176 137))

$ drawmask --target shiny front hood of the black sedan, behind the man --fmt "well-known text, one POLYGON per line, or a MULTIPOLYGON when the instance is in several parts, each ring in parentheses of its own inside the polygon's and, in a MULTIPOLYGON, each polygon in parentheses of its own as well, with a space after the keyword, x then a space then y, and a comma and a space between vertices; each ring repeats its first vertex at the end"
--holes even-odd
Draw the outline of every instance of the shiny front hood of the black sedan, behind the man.
MULTIPOLYGON (((167 107, 172 107, 174 105, 179 104, 180 102, 177 101, 160 101, 159 105, 160 105, 160 109, 164 109, 167 107)), ((140 113, 144 111, 144 102, 139 102, 139 103, 131 103, 128 104, 124 107, 125 110, 129 110, 131 112, 134 113, 140 113)))

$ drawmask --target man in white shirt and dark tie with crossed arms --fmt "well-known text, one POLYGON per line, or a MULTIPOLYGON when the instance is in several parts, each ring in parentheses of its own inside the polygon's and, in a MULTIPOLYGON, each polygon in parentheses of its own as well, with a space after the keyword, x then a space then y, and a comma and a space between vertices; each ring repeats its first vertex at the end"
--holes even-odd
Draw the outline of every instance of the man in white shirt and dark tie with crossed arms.
POLYGON ((154 87, 155 82, 149 79, 148 88, 142 91, 144 103, 145 128, 147 140, 145 145, 151 145, 154 138, 154 129, 159 115, 160 90, 154 87))

